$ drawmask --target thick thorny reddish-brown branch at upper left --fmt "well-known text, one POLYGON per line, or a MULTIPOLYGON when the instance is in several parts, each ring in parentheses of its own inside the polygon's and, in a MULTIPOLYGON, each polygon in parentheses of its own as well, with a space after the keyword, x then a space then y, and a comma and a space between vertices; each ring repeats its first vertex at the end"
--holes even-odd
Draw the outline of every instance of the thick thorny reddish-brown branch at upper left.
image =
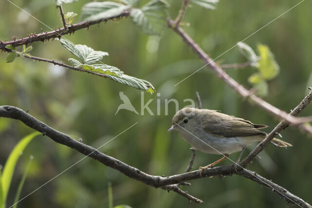
POLYGON ((21 45, 27 45, 30 44, 32 42, 37 42, 37 41, 46 41, 52 38, 52 40, 54 38, 60 38, 63 35, 66 34, 74 34, 75 31, 77 30, 81 30, 84 28, 89 28, 89 26, 94 25, 94 24, 98 24, 102 21, 106 22, 108 20, 113 20, 113 19, 120 19, 123 17, 128 17, 130 14, 130 10, 125 10, 123 11, 120 15, 116 15, 110 18, 105 18, 105 19, 99 19, 96 21, 82 21, 76 24, 72 24, 70 26, 68 26, 67 28, 63 27, 63 28, 59 28, 59 30, 54 30, 51 32, 41 32, 40 34, 31 34, 28 35, 27 38, 21 38, 21 39, 14 39, 13 41, 7 41, 7 42, 2 42, 0 41, 0 50, 4 50, 4 51, 8 51, 8 49, 5 48, 5 46, 7 45, 12 45, 14 47, 18 47, 21 45))

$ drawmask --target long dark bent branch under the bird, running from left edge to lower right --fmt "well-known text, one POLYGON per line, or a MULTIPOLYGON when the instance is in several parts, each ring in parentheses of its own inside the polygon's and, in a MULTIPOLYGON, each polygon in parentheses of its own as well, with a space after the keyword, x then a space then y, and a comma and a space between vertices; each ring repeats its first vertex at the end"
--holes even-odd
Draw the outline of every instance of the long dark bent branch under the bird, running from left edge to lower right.
MULTIPOLYGON (((23 110, 13 107, 13 106, 0 106, 0 117, 6 117, 6 118, 13 118, 20 120, 23 122, 25 125, 29 126, 32 129, 35 129, 44 135, 50 137, 52 140, 55 142, 65 145, 67 147, 70 147, 72 149, 75 149, 79 151, 80 153, 84 155, 88 155, 89 157, 98 160, 100 163, 102 163, 105 166, 111 167, 115 170, 118 170, 119 172, 123 173, 124 175, 128 176, 129 178, 136 179, 144 184, 147 184, 151 187, 154 188, 162 188, 166 189, 166 186, 168 185, 174 185, 178 184, 180 182, 185 182, 185 181, 190 181, 190 180, 195 180, 195 179, 200 179, 202 177, 210 177, 210 176, 215 176, 215 175, 232 175, 232 174, 239 174, 242 175, 246 178, 252 179, 255 182, 264 185, 263 181, 268 181, 267 185, 270 185, 271 187, 277 187, 278 185, 274 184, 273 182, 269 181, 268 179, 265 179, 261 177, 261 181, 254 179, 250 174, 247 174, 244 170, 238 170, 235 172, 234 166, 228 165, 228 166, 219 166, 215 167, 212 169, 206 169, 202 171, 202 174, 200 175, 199 170, 187 172, 187 173, 182 173, 178 175, 172 175, 168 177, 161 177, 161 176, 154 176, 154 175, 149 175, 141 170, 138 170, 137 168, 131 167, 127 165, 126 163, 121 162, 120 160, 117 160, 114 157, 108 156, 102 152, 97 151, 95 148, 90 147, 88 145, 83 144, 82 142, 76 141, 69 137, 68 135, 58 132, 57 130, 49 127, 45 123, 39 121, 38 119, 34 118, 30 114, 24 112, 23 110)), ((249 170, 247 170, 249 171, 249 170)), ((257 174, 257 176, 259 176, 257 174)), ((260 176, 259 176, 260 178, 260 176)), ((258 178, 258 179, 259 179, 258 178)), ((270 187, 268 186, 268 187, 270 187)), ((280 187, 280 186, 278 186, 280 187)), ((173 188, 175 190, 176 188, 173 188)), ((275 189, 275 188, 274 188, 275 189)), ((277 189, 277 188, 276 188, 277 189)), ((280 189, 283 189, 280 187, 280 189)), ((279 190, 279 189, 277 189, 279 190)), ((176 192, 185 196, 185 193, 183 191, 181 192, 180 190, 176 189, 176 192)), ((282 192, 285 197, 283 197, 284 200, 291 199, 293 202, 300 204, 304 208, 312 208, 311 205, 300 199, 299 197, 293 195, 289 191, 282 192)), ((194 197, 195 198, 195 197, 194 197)), ((188 198, 190 199, 190 198, 188 198)), ((286 201, 287 201, 286 200, 286 201)), ((293 203, 293 202, 290 203, 293 203)))

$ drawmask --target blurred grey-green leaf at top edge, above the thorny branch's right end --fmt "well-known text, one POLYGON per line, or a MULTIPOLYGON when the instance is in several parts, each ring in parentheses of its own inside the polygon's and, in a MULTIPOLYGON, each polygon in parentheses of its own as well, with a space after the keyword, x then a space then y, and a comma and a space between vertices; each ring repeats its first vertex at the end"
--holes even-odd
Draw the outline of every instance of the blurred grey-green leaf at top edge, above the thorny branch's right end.
POLYGON ((97 21, 121 15, 130 8, 128 5, 112 1, 90 2, 83 5, 80 18, 81 20, 97 21))

